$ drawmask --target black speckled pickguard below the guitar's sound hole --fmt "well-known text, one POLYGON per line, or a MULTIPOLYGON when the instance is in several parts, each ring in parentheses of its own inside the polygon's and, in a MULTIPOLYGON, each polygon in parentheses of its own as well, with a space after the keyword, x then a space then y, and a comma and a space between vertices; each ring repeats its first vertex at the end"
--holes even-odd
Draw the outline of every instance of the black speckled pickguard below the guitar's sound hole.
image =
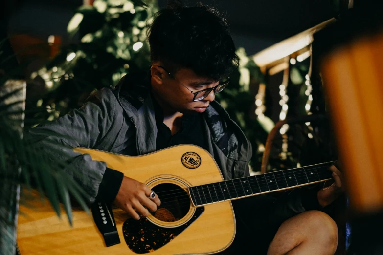
POLYGON ((201 216, 204 210, 204 207, 198 207, 188 222, 176 228, 159 227, 144 217, 140 220, 128 219, 122 225, 125 242, 134 253, 153 252, 176 238, 201 216))

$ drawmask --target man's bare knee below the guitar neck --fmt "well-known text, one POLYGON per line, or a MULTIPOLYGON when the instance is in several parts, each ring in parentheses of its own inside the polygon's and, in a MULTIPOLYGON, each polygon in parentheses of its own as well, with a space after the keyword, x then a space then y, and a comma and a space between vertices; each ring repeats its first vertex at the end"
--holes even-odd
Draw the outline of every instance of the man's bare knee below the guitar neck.
POLYGON ((271 241, 268 255, 333 255, 338 228, 324 212, 302 212, 282 223, 271 241))

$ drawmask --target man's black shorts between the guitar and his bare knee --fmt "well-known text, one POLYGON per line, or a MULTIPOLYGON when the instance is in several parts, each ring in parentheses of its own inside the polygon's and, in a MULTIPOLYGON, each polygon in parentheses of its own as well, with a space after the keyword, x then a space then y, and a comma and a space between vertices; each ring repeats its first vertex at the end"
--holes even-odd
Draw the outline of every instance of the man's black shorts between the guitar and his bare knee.
POLYGON ((286 218, 274 217, 275 198, 260 195, 233 201, 237 231, 233 243, 219 255, 266 255, 279 226, 286 218))

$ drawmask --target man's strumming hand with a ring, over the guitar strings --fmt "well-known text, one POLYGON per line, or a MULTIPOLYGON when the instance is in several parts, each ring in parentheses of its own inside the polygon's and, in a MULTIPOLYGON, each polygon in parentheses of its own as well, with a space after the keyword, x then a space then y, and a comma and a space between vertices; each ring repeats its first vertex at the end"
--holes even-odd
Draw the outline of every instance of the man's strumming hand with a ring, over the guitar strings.
POLYGON ((124 176, 114 203, 132 218, 139 220, 139 214, 146 217, 149 215, 148 209, 156 212, 161 204, 157 194, 154 199, 149 198, 151 192, 145 184, 124 176))

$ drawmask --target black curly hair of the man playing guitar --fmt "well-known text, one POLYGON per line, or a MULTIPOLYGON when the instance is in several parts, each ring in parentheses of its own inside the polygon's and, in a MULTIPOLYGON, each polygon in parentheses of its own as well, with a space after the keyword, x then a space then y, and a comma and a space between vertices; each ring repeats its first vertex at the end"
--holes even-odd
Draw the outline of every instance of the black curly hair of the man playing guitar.
POLYGON ((151 61, 162 62, 172 73, 190 68, 219 80, 239 65, 226 19, 203 4, 186 7, 172 1, 147 24, 147 40, 151 61))

